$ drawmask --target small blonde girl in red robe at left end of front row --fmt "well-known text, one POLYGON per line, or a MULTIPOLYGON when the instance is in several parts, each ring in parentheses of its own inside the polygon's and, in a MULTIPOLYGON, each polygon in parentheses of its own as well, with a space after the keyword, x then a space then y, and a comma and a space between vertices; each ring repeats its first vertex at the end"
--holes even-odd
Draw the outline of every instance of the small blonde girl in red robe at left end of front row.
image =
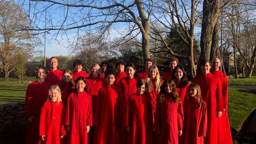
POLYGON ((41 107, 38 144, 60 144, 60 138, 66 135, 64 112, 60 87, 52 85, 49 89, 47 101, 41 107))

